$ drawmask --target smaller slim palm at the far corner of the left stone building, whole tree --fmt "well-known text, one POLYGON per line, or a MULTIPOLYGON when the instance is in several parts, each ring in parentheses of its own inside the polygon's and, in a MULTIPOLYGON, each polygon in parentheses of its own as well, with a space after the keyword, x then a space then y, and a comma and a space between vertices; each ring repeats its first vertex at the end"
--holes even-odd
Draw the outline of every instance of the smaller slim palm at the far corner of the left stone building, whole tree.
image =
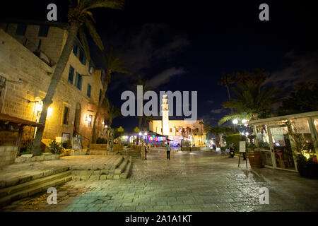
POLYGON ((112 73, 129 73, 124 66, 124 61, 121 59, 119 55, 114 56, 112 54, 112 50, 107 53, 102 54, 102 59, 106 65, 106 73, 105 78, 102 81, 102 93, 100 96, 100 102, 98 102, 98 109, 96 111, 94 122, 93 122, 93 130, 92 130, 92 143, 96 143, 96 133, 95 133, 95 124, 96 119, 98 118, 98 114, 100 113, 100 108, 102 107, 102 102, 105 100, 106 91, 108 85, 110 84, 110 80, 112 79, 112 73))

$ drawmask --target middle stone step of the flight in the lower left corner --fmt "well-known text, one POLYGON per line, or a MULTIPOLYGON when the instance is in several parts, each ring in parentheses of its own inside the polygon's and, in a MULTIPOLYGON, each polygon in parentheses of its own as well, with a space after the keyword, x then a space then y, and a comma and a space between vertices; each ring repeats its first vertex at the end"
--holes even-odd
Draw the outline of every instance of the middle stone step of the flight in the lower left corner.
POLYGON ((26 183, 23 183, 23 184, 18 184, 16 186, 11 186, 11 187, 8 187, 6 189, 1 189, 0 190, 0 198, 2 198, 4 196, 9 196, 9 195, 17 193, 19 191, 23 191, 25 189, 33 188, 33 187, 38 186, 40 184, 51 182, 54 179, 60 179, 60 178, 63 178, 63 177, 68 177, 69 175, 71 175, 71 171, 70 170, 66 171, 66 172, 61 172, 61 173, 58 173, 58 174, 53 174, 53 175, 51 175, 49 177, 42 177, 40 179, 33 179, 30 182, 26 182, 26 183))

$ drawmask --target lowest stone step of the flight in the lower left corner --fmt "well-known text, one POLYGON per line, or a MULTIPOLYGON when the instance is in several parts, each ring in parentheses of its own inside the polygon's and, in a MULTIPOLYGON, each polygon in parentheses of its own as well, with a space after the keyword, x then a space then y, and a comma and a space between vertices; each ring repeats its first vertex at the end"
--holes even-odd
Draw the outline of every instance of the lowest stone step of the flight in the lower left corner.
MULTIPOLYGON (((23 191, 18 191, 13 194, 9 194, 8 196, 4 196, 0 198, 0 206, 6 206, 9 203, 19 200, 21 198, 26 198, 29 196, 33 196, 34 194, 46 192, 49 187, 56 187, 60 186, 61 184, 64 184, 66 182, 69 182, 72 179, 71 172, 62 172, 60 174, 54 174, 52 176, 49 176, 49 179, 47 177, 37 179, 36 186, 27 186, 28 189, 24 189, 23 191)), ((31 182, 27 182, 25 184, 28 184, 31 182)), ((34 183, 34 182, 33 182, 34 183)))

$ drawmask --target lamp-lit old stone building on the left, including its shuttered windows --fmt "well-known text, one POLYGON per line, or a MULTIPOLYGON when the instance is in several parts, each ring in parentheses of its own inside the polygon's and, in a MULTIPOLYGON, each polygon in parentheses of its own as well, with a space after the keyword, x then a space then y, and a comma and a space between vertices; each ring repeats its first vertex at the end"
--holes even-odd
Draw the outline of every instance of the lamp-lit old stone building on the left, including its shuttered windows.
MULTIPOLYGON (((67 28, 66 23, 0 23, 1 113, 30 121, 40 119, 42 100, 66 42, 67 28)), ((71 140, 77 135, 88 145, 102 75, 76 40, 49 106, 43 139, 71 140)), ((100 133, 103 116, 100 114, 97 121, 100 133)))

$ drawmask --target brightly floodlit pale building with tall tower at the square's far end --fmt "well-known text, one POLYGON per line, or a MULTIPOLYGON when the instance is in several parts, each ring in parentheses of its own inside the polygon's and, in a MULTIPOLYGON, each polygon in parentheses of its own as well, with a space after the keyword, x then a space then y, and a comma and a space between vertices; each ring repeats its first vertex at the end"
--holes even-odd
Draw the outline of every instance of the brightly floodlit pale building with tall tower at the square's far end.
POLYGON ((167 104, 167 95, 163 95, 162 119, 149 122, 149 131, 167 136, 172 143, 188 143, 189 145, 205 145, 206 132, 203 124, 197 120, 193 124, 184 120, 170 120, 169 107, 167 104))

